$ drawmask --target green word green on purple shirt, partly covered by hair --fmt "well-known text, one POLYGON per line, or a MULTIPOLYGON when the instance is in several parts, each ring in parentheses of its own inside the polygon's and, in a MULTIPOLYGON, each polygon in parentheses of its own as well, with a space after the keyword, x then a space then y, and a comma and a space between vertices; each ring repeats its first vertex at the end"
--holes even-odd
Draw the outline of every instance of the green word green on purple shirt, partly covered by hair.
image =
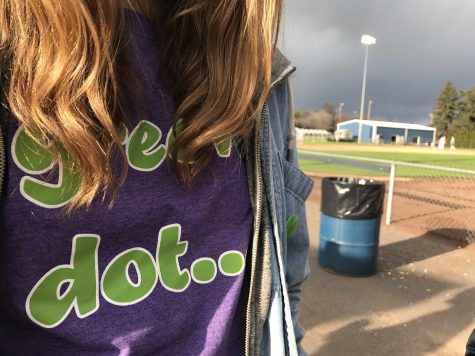
MULTIPOLYGON (((175 130, 172 128, 168 132, 165 144, 159 144, 162 139, 160 128, 145 120, 140 121, 130 134, 125 125, 122 125, 118 134, 122 144, 126 146, 129 165, 138 171, 150 172, 165 161, 168 148, 183 129, 184 121, 179 120, 175 130)), ((219 157, 231 155, 230 137, 218 140, 214 146, 219 157)), ((67 205, 81 184, 81 176, 70 155, 61 146, 58 147, 58 152, 59 159, 56 161, 48 149, 31 138, 22 127, 18 128, 13 137, 13 160, 18 168, 28 174, 20 180, 20 192, 28 201, 47 209, 67 205), (57 182, 50 182, 52 170, 56 166, 57 182), (42 176, 44 174, 49 176, 42 176), (33 178, 31 175, 39 177, 33 178)), ((177 159, 184 161, 183 150, 178 150, 177 159)), ((193 157, 188 163, 194 163, 193 157)))

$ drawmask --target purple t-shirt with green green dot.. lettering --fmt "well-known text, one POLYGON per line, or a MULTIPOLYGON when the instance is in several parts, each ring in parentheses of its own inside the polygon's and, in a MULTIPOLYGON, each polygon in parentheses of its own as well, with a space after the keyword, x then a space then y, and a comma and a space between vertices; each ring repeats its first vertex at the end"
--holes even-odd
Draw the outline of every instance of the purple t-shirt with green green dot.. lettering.
MULTIPOLYGON (((145 107, 123 131, 129 174, 112 209, 65 214, 78 177, 15 120, 0 201, 0 353, 239 355, 252 230, 245 166, 230 142, 184 188, 165 157, 174 112, 151 24, 128 12, 145 107)), ((135 107, 135 109, 133 109, 135 107)))

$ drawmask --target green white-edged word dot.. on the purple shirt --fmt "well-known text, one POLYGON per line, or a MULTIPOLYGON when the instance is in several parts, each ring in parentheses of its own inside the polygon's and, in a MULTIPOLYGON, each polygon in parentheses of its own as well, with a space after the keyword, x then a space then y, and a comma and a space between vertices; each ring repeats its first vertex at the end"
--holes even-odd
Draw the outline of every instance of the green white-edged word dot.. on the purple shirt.
MULTIPOLYGON (((81 319, 99 310, 99 294, 111 304, 126 306, 147 298, 158 279, 165 289, 175 293, 185 292, 191 279, 198 284, 214 281, 218 267, 212 258, 198 258, 192 263, 191 272, 181 269, 179 257, 187 252, 188 242, 180 238, 179 224, 164 226, 158 234, 156 259, 141 247, 126 250, 108 263, 99 287, 100 236, 74 236, 70 263, 50 269, 28 294, 28 317, 42 327, 54 328, 73 309, 81 319), (131 277, 132 269, 135 278, 131 277)), ((244 256, 239 251, 226 251, 219 257, 218 265, 223 275, 237 276, 244 270, 244 256)))

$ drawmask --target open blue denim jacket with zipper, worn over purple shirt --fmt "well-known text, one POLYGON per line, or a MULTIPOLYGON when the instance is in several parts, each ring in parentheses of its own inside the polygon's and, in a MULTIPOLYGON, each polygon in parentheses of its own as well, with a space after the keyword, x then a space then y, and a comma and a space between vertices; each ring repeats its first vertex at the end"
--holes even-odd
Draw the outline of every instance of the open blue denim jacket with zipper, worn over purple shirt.
MULTIPOLYGON (((297 304, 309 273, 304 202, 313 182, 297 168, 288 82, 294 70, 276 51, 265 110, 255 134, 243 145, 255 217, 248 252, 246 355, 305 354, 299 346, 303 329, 297 320, 297 304)), ((0 106, 0 197, 5 175, 5 123, 6 110, 0 106)))

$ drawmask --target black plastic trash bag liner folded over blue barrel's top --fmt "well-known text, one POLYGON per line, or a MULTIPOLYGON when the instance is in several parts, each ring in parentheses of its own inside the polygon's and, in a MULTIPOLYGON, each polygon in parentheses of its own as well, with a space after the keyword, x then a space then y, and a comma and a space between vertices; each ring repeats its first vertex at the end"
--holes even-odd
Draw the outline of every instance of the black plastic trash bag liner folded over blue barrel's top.
POLYGON ((323 214, 351 220, 369 220, 383 213, 384 182, 328 177, 322 180, 323 214))

